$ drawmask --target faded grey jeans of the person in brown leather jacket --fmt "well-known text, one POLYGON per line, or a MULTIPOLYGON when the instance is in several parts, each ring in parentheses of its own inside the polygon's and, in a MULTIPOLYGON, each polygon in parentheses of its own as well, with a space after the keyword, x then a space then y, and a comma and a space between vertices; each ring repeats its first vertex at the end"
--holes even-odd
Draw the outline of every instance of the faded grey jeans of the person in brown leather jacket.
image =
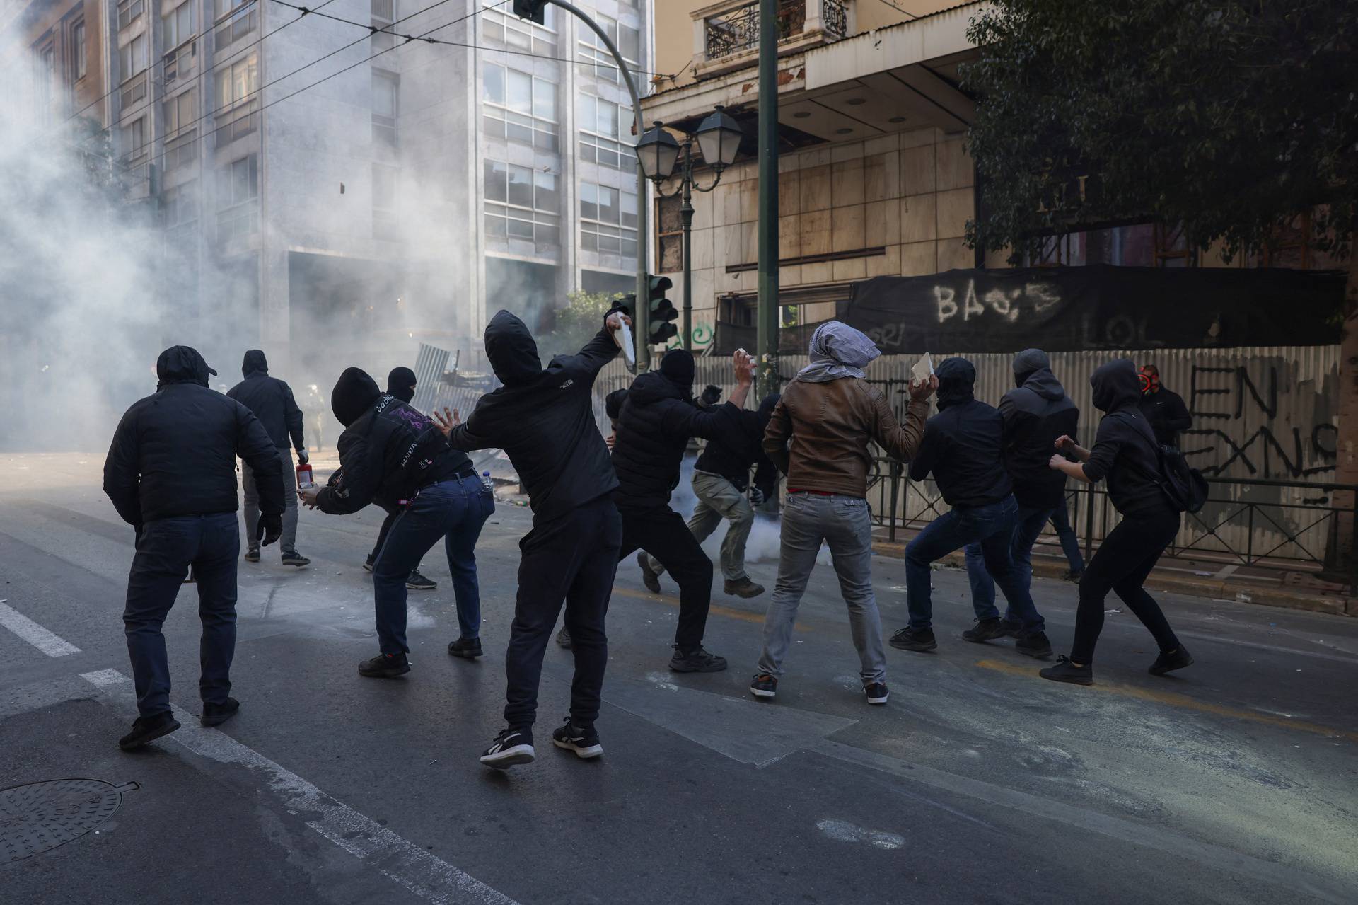
POLYGON ((797 605, 816 565, 820 542, 830 545, 839 591, 849 607, 849 628, 864 685, 887 679, 887 651, 881 643, 881 618, 872 590, 872 519, 868 500, 853 496, 789 493, 782 511, 782 552, 778 583, 765 614, 763 654, 759 671, 782 675, 782 659, 792 644, 797 605))

